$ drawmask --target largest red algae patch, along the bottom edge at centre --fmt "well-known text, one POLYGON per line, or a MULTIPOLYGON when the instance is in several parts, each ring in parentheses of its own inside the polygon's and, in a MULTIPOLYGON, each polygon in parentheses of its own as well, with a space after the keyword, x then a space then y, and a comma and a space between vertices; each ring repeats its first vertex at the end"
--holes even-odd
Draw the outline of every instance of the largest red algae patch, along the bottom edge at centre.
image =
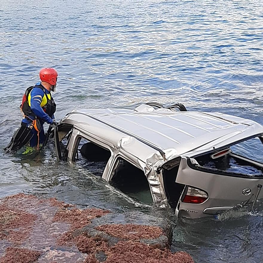
POLYGON ((167 248, 160 249, 158 244, 149 245, 134 240, 119 241, 110 247, 101 236, 69 235, 68 238, 82 253, 88 256, 84 263, 194 263, 185 252, 172 253, 167 248), (98 261, 97 253, 105 255, 105 260, 98 261))

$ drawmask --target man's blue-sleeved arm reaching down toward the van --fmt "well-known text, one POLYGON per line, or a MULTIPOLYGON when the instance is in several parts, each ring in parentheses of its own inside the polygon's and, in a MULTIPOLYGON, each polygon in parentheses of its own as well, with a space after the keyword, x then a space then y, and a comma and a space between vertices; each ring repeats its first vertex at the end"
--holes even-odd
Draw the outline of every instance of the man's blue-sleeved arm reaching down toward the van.
POLYGON ((41 101, 45 96, 44 91, 42 91, 41 88, 33 88, 30 95, 30 107, 33 113, 36 114, 36 116, 42 119, 43 121, 47 122, 48 124, 51 124, 53 120, 51 119, 51 117, 48 116, 48 114, 45 113, 45 111, 43 111, 43 109, 40 106, 41 101))

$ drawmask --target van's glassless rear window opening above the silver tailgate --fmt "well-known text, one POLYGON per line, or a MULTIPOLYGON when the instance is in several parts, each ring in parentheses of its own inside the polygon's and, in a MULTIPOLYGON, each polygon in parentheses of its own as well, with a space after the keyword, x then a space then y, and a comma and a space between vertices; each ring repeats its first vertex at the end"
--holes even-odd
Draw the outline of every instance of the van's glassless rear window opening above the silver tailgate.
POLYGON ((259 137, 256 137, 213 154, 199 156, 196 160, 200 168, 221 174, 255 178, 263 176, 262 156, 263 144, 259 137))

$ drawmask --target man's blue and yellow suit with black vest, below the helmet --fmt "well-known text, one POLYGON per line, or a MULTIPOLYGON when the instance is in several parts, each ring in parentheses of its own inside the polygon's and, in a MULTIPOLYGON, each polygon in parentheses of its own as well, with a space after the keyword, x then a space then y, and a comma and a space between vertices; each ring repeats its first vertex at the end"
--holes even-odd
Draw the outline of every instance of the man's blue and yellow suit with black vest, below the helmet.
POLYGON ((45 141, 44 123, 52 124, 54 120, 54 113, 56 111, 56 104, 51 97, 51 92, 37 82, 36 85, 26 96, 25 103, 23 103, 22 111, 25 118, 22 120, 21 125, 29 127, 33 120, 39 119, 41 130, 38 132, 32 129, 33 137, 30 140, 30 146, 34 147, 45 141))

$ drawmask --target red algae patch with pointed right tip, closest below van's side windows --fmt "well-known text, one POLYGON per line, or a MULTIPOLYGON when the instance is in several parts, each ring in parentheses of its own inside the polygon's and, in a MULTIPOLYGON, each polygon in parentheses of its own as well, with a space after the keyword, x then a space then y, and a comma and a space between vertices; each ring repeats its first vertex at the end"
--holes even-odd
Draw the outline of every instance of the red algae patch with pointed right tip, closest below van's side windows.
POLYGON ((81 210, 78 208, 62 207, 54 216, 53 221, 71 224, 71 230, 80 229, 90 223, 90 220, 108 214, 110 211, 97 208, 81 210))

